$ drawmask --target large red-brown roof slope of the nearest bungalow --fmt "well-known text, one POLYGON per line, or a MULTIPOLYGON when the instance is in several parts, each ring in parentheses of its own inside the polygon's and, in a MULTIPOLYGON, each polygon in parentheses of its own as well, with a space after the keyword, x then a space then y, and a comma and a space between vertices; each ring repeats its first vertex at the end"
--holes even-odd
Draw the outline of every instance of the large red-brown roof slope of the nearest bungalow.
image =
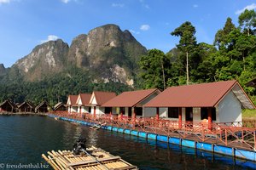
MULTIPOLYGON (((146 107, 213 107, 224 98, 235 80, 210 82, 167 88, 146 104, 146 107)), ((246 95, 246 94, 245 94, 246 95)))

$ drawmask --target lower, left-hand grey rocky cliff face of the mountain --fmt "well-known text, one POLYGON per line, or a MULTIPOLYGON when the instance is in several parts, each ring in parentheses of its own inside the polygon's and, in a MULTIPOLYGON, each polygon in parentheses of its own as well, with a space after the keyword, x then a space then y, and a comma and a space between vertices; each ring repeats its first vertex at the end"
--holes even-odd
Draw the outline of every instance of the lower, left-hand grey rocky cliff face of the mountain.
POLYGON ((40 80, 42 77, 63 71, 68 54, 68 45, 62 40, 44 42, 31 54, 19 59, 17 67, 27 79, 40 80))

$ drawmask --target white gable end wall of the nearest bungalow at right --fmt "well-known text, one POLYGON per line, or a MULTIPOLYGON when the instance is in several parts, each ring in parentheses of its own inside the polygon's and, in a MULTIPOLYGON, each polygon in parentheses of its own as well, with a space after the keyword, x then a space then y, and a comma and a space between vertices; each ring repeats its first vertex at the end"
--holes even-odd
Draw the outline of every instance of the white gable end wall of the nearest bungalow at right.
POLYGON ((230 91, 218 104, 217 122, 241 122, 241 103, 230 91))

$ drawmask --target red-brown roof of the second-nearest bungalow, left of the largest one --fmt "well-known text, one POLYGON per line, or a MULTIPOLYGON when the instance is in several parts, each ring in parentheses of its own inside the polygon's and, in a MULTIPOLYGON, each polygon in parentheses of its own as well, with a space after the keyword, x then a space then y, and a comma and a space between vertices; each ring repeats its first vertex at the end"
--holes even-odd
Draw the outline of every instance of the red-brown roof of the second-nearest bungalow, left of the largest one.
POLYGON ((134 107, 143 99, 147 99, 148 96, 154 93, 160 93, 157 88, 147 90, 137 90, 131 92, 124 92, 117 97, 109 100, 105 103, 104 107, 134 107))

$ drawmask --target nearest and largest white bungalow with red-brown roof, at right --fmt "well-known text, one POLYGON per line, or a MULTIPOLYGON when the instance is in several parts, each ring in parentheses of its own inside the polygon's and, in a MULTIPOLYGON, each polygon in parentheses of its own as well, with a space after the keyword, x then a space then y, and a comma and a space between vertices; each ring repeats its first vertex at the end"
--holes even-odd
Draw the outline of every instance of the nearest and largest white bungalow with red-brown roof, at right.
POLYGON ((156 115, 178 121, 241 122, 241 109, 255 105, 237 81, 210 82, 167 88, 145 107, 155 108, 156 115))

